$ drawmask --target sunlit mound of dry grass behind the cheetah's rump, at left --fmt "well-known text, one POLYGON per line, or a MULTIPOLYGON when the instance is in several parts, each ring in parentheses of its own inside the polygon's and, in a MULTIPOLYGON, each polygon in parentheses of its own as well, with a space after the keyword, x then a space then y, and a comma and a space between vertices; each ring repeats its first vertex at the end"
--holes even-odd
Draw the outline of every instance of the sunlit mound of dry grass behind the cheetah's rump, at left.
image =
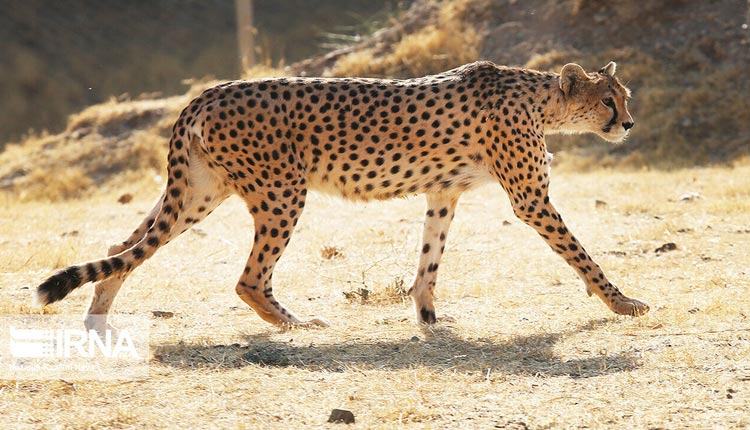
MULTIPOLYGON (((259 65, 245 78, 284 76, 259 65)), ((181 96, 112 97, 68 118, 65 131, 26 137, 0 154, 0 193, 11 199, 57 201, 110 188, 153 187, 165 170, 172 124, 188 101, 217 81, 189 80, 181 96), (145 178, 145 179, 144 179, 145 178)), ((137 190, 137 188, 135 189, 137 190)))

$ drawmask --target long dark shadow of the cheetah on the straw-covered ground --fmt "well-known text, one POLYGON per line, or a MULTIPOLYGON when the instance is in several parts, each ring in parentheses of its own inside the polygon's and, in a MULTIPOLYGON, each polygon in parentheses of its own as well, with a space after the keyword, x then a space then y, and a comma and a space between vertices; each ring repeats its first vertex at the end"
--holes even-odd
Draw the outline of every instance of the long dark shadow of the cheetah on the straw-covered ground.
POLYGON ((465 339, 448 327, 426 328, 419 340, 346 342, 299 346, 270 340, 268 335, 247 336, 246 344, 205 345, 172 343, 156 346, 154 360, 178 368, 230 369, 251 365, 345 372, 366 369, 427 367, 464 373, 487 372, 589 378, 637 369, 634 352, 602 354, 563 360, 554 347, 563 337, 596 331, 609 320, 593 320, 568 330, 512 336, 501 342, 465 339))

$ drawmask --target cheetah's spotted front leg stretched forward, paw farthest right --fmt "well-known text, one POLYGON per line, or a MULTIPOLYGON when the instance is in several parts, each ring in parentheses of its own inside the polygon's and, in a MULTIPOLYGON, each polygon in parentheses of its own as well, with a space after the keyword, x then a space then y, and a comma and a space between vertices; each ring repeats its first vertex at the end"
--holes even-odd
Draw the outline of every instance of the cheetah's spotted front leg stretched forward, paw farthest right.
POLYGON ((640 316, 648 312, 646 303, 624 296, 610 283, 598 264, 568 230, 562 217, 549 201, 547 188, 526 188, 511 193, 513 211, 539 233, 547 244, 575 269, 586 284, 586 292, 596 294, 609 308, 620 315, 640 316), (531 197, 536 196, 536 197, 531 197))

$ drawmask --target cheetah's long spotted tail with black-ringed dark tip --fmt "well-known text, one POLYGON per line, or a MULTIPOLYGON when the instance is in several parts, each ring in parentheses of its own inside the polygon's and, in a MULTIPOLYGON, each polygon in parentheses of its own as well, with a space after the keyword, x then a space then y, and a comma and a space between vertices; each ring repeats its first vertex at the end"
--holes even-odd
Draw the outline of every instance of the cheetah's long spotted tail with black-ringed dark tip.
POLYGON ((35 301, 38 305, 45 306, 62 300, 71 291, 88 282, 123 276, 154 255, 156 250, 167 242, 169 233, 179 217, 188 188, 188 148, 193 132, 187 122, 190 112, 188 109, 194 103, 195 101, 182 111, 172 130, 172 138, 169 141, 167 189, 161 209, 144 237, 117 255, 70 266, 50 276, 36 289, 35 301))

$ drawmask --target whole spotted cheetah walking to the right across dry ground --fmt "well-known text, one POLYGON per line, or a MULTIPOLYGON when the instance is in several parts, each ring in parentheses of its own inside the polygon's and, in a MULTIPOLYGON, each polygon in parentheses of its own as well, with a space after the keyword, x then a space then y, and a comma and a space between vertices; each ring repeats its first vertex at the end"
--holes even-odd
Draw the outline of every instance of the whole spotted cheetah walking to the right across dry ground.
POLYGON ((146 219, 106 258, 70 266, 36 290, 41 305, 97 282, 86 314, 101 329, 125 278, 157 249, 204 219, 229 195, 244 199, 254 243, 236 293, 265 321, 303 321, 273 295, 274 267, 308 190, 354 201, 425 194, 416 279, 418 322, 436 322, 433 290, 459 196, 499 183, 514 214, 537 231, 613 312, 643 315, 563 222, 548 196, 545 136, 595 133, 622 141, 634 122, 616 64, 560 73, 480 61, 415 79, 275 78, 232 81, 182 111, 169 141, 168 181, 146 219), (98 318, 103 317, 103 318, 98 318))

